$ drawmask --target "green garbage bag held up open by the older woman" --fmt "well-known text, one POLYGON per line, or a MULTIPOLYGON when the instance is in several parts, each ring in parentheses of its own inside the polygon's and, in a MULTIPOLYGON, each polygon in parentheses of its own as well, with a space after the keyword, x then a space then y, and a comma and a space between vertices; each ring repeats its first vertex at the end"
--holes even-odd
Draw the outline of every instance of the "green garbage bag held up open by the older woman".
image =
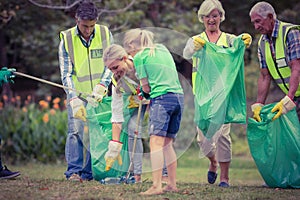
POLYGON ((194 85, 194 121, 207 139, 223 124, 246 123, 244 51, 239 36, 230 48, 207 42, 194 55, 200 59, 194 85))

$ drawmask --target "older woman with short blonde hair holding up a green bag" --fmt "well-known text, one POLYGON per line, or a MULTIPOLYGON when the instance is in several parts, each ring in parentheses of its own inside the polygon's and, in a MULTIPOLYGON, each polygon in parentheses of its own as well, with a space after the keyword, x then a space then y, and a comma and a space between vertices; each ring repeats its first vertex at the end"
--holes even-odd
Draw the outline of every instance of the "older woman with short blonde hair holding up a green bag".
MULTIPOLYGON (((183 51, 183 56, 186 59, 193 59, 192 84, 194 92, 195 86, 199 84, 195 82, 197 70, 201 71, 201 66, 198 66, 200 60, 199 58, 193 57, 194 53, 201 50, 206 42, 215 43, 218 46, 230 47, 236 38, 235 35, 225 33, 220 30, 220 24, 225 20, 225 10, 223 9, 221 2, 218 0, 203 1, 198 10, 198 19, 204 24, 205 30, 190 38, 183 51)), ((249 47, 252 41, 251 36, 245 33, 243 34, 242 39, 244 40, 245 45, 249 47)), ((199 105, 195 103, 195 108, 196 106, 199 105)), ((208 182, 210 184, 215 183, 219 164, 221 169, 219 186, 229 187, 229 166, 232 154, 231 137, 229 134, 230 124, 223 124, 211 140, 207 140, 198 127, 197 132, 200 149, 204 151, 204 155, 210 160, 207 173, 208 182)))

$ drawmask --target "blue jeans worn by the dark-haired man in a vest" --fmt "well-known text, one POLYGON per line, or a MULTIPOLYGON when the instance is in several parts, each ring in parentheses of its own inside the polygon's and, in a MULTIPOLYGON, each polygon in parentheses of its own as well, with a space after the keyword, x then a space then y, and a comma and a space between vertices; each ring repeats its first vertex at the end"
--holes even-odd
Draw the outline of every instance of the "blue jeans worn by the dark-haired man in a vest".
POLYGON ((84 145, 84 122, 73 117, 70 104, 67 104, 68 110, 68 135, 65 146, 65 157, 67 160, 66 178, 72 174, 78 174, 84 180, 92 180, 91 154, 89 145, 84 145), (86 150, 86 159, 84 161, 84 150, 86 150))

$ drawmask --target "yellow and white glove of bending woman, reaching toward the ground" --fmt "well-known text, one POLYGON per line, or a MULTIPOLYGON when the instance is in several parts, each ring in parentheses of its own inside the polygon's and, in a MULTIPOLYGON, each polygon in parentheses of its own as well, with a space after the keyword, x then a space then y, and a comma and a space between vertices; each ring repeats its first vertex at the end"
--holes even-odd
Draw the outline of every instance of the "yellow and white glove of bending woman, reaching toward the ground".
POLYGON ((106 162, 105 171, 109 171, 113 166, 115 160, 118 160, 118 164, 122 165, 121 150, 123 144, 119 141, 111 140, 108 143, 108 151, 105 153, 104 159, 106 162))

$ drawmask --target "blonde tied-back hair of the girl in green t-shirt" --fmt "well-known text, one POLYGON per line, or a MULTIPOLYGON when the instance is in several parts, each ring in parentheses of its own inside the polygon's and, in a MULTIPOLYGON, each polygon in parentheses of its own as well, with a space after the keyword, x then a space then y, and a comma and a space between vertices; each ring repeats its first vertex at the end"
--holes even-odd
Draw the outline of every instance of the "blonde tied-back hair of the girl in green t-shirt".
POLYGON ((154 34, 140 28, 131 29, 125 33, 123 46, 127 53, 150 48, 150 55, 154 54, 154 34))

